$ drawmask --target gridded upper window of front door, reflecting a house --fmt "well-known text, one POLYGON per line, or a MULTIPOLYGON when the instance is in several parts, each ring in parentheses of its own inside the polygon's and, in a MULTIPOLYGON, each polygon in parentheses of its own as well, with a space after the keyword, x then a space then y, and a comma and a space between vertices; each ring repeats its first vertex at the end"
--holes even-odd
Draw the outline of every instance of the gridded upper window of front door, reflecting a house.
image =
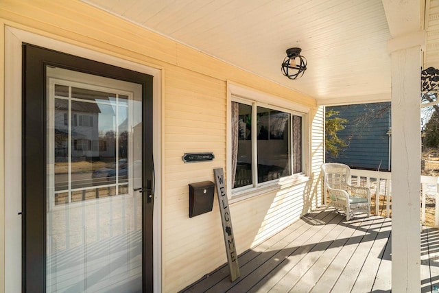
POLYGON ((128 96, 56 84, 54 106, 55 205, 126 194, 128 96))

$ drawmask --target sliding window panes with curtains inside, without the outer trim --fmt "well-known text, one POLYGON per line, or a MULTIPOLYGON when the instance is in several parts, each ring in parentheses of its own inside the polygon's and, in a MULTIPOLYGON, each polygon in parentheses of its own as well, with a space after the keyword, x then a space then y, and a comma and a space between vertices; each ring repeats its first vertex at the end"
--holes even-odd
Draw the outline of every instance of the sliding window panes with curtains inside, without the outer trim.
POLYGON ((244 99, 231 103, 233 192, 303 172, 304 114, 244 99))

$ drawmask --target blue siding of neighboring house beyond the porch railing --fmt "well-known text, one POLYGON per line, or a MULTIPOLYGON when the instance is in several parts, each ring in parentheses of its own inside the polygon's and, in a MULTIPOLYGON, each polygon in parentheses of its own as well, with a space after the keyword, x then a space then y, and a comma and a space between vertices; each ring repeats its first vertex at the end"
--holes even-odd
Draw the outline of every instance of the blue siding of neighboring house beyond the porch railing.
POLYGON ((331 106, 327 107, 327 112, 331 109, 340 112, 337 117, 348 119, 344 124, 346 128, 337 132, 348 147, 341 150, 338 157, 327 153, 327 163, 344 163, 356 169, 390 170, 387 134, 390 130, 390 102, 331 106))

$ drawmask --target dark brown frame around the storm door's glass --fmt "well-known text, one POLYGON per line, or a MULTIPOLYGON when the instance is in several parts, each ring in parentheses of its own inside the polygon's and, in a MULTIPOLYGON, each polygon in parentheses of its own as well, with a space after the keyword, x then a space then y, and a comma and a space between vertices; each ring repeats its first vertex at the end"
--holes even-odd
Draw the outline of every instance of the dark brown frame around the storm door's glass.
POLYGON ((142 85, 143 292, 153 289, 153 172, 151 75, 23 44, 23 292, 46 292, 46 72, 47 65, 142 85), (150 198, 149 195, 152 195, 150 198))

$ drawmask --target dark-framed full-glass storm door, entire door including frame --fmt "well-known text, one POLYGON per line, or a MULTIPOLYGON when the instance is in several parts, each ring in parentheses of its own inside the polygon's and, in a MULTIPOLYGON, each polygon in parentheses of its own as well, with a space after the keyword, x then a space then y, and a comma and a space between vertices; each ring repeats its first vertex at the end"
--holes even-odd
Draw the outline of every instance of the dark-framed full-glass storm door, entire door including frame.
POLYGON ((152 290, 152 77, 23 49, 23 290, 152 290))

